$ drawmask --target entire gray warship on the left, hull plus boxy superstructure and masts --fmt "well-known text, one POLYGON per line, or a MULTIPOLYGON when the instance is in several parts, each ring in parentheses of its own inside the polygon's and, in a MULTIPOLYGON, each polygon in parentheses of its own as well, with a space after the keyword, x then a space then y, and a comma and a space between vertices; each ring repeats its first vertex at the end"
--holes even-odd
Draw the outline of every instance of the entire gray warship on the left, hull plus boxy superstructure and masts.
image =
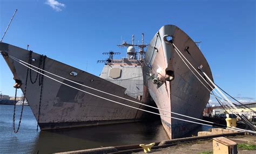
POLYGON ((136 122, 149 116, 136 109, 149 110, 147 107, 134 103, 152 102, 143 83, 142 59, 137 58, 142 58, 146 45, 123 43, 119 46, 127 47, 127 57, 113 60, 114 53, 109 52, 110 58, 100 76, 10 44, 0 43, 0 51, 14 75, 15 88, 22 89, 39 127, 50 130, 136 122), (136 46, 140 48, 140 55, 135 51, 136 46), (21 65, 20 61, 27 64, 21 65), (36 66, 38 72, 31 71, 29 65, 36 66))

